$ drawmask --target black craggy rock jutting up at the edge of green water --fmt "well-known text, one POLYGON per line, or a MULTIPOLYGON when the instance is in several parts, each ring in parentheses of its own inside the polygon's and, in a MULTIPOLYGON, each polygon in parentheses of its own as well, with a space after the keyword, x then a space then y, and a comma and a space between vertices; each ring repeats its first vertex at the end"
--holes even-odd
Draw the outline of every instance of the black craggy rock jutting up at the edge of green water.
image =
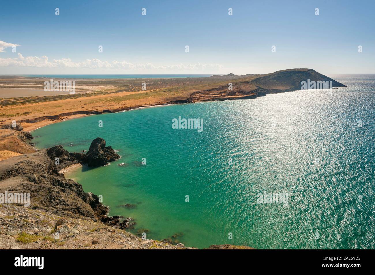
POLYGON ((83 161, 90 167, 98 167, 115 161, 120 156, 112 149, 111 146, 105 147, 105 140, 95 138, 90 145, 89 151, 86 153, 83 161))

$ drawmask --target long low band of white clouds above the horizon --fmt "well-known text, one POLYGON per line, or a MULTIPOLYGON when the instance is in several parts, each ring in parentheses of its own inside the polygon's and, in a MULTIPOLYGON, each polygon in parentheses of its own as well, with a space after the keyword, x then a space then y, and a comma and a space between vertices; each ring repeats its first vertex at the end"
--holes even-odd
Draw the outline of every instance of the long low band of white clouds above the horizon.
POLYGON ((26 56, 18 53, 18 58, 0 58, 0 67, 44 67, 44 68, 102 68, 102 69, 121 69, 121 70, 204 70, 212 69, 218 70, 222 68, 222 65, 217 64, 177 64, 177 65, 165 65, 165 66, 154 66, 151 63, 145 64, 133 64, 126 61, 112 62, 101 61, 100 59, 86 59, 81 62, 73 62, 70 58, 53 59, 48 61, 48 57, 43 55, 42 57, 37 56, 26 56))

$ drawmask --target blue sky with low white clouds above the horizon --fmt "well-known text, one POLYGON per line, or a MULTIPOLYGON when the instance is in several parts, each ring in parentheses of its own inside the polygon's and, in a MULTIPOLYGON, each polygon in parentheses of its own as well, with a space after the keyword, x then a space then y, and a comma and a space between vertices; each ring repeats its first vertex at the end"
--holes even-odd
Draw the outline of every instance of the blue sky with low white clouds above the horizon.
POLYGON ((3 1, 0 74, 375 73, 374 9, 346 0, 3 1))

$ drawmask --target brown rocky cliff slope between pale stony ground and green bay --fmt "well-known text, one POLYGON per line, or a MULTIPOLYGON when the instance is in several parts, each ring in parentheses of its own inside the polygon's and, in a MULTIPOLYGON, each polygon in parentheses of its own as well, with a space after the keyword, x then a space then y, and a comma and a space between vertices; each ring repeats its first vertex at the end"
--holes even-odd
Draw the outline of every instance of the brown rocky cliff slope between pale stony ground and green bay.
POLYGON ((98 196, 58 173, 46 149, 1 161, 0 193, 3 190, 30 193, 31 208, 58 216, 101 220, 108 213, 98 196))

